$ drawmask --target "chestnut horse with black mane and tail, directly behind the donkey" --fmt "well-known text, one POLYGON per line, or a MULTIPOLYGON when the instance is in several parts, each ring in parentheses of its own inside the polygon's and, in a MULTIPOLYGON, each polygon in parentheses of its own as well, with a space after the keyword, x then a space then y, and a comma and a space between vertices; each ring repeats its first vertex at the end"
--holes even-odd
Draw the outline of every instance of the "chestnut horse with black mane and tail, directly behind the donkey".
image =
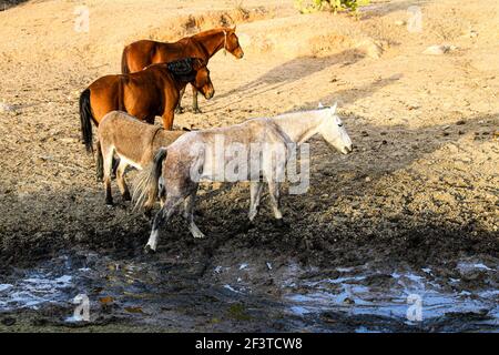
MULTIPOLYGON (((102 118, 111 111, 125 111, 147 123, 154 123, 154 118, 161 115, 164 129, 171 130, 180 91, 187 82, 196 87, 206 99, 211 99, 215 92, 210 71, 198 58, 153 64, 136 73, 106 75, 94 81, 80 97, 81 132, 86 150, 93 151, 90 122, 99 125, 102 118)), ((100 146, 96 171, 101 179, 103 170, 100 146)))

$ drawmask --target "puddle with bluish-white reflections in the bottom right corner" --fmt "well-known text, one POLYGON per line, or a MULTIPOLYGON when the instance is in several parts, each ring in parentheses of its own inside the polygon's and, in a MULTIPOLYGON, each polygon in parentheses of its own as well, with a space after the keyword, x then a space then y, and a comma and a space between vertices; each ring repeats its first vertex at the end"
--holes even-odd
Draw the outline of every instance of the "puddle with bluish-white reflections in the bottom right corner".
MULTIPOLYGON (((481 263, 459 266, 464 278, 497 273, 481 263)), ((308 321, 308 331, 327 331, 324 323, 338 320, 358 324, 349 328, 353 332, 499 329, 499 291, 488 282, 467 290, 461 278, 430 267, 381 271, 364 265, 337 271, 336 278, 303 281, 294 285, 299 292, 286 296, 289 312, 308 321)))

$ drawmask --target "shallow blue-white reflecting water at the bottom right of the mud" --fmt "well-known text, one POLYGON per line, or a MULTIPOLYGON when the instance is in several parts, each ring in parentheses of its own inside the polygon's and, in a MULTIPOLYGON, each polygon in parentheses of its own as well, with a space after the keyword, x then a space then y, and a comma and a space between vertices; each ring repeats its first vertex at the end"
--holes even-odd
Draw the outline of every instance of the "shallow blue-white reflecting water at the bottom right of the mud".
MULTIPOLYGON (((472 268, 492 271, 480 264, 472 265, 468 271, 472 268)), ((289 312, 303 317, 328 311, 345 312, 349 315, 376 315, 395 318, 409 326, 422 326, 446 315, 477 314, 482 317, 478 317, 472 324, 466 324, 466 327, 499 331, 498 290, 449 292, 442 284, 456 285, 459 280, 431 277, 430 268, 420 270, 418 273, 383 273, 366 267, 364 271, 348 271, 345 274, 334 280, 305 281, 302 286, 308 288, 307 293, 289 293, 286 296, 292 303, 289 312), (373 285, 367 282, 368 276, 373 275, 386 277, 388 285, 373 285)), ((381 320, 379 324, 379 327, 370 331, 390 331, 383 327, 381 320)), ((317 329, 315 325, 312 328, 317 329)), ((369 332, 367 327, 358 331, 369 332)))

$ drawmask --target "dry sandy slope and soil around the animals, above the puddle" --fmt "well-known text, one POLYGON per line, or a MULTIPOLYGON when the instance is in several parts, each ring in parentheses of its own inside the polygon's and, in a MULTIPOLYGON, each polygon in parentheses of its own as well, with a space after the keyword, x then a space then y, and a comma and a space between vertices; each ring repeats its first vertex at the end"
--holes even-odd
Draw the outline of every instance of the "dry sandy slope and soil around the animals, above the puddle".
MULTIPOLYGON (((174 40, 232 21, 245 58, 214 57, 215 97, 200 101, 202 114, 176 115, 175 125, 222 126, 338 101, 357 149, 344 158, 312 140, 310 189, 283 197, 285 231, 273 226, 267 207, 256 229, 238 231, 248 186, 203 186, 198 226, 208 239, 193 241, 174 220, 154 263, 190 265, 183 275, 196 268, 190 276, 198 283, 214 282, 212 267, 242 260, 322 270, 403 262, 452 271, 459 260, 477 257, 496 267, 497 1, 373 1, 358 19, 299 14, 292 1, 85 4, 89 33, 73 29, 74 1, 28 1, 0 12, 4 273, 62 250, 144 257, 147 222, 128 204, 110 210, 103 203, 93 158, 80 143, 79 94, 119 72, 121 50, 133 40, 174 40), (421 32, 405 24, 415 4, 421 32), (422 53, 436 44, 454 47, 422 53)), ((255 290, 272 293, 258 275, 255 290)), ((497 273, 487 283, 497 285, 497 273)))

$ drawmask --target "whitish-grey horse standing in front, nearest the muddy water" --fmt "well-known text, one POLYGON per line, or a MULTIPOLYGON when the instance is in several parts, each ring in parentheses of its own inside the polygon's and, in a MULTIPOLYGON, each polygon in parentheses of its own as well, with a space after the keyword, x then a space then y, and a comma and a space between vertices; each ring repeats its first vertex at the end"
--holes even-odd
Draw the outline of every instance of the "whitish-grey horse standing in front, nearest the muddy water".
POLYGON ((279 183, 291 154, 289 146, 299 145, 317 133, 339 152, 352 152, 352 141, 342 120, 336 115, 336 104, 275 118, 252 119, 227 128, 189 132, 167 148, 161 148, 153 164, 139 176, 133 194, 136 205, 146 209, 152 209, 157 195, 161 197, 162 207, 154 217, 145 250, 156 250, 161 225, 182 203, 183 215, 189 222, 192 235, 204 237, 193 216, 198 182, 226 182, 227 174, 224 169, 233 161, 234 151, 249 151, 249 154, 243 154, 244 161, 240 160, 236 169, 237 181, 249 181, 251 184, 249 220, 253 221, 257 214, 263 182, 266 182, 274 215, 282 222, 279 183), (232 153, 221 152, 221 141, 225 150, 228 148, 232 153), (255 146, 259 152, 264 151, 263 156, 259 152, 253 154, 255 146), (251 169, 252 166, 257 169, 251 169), (161 191, 160 180, 163 180, 161 191))

